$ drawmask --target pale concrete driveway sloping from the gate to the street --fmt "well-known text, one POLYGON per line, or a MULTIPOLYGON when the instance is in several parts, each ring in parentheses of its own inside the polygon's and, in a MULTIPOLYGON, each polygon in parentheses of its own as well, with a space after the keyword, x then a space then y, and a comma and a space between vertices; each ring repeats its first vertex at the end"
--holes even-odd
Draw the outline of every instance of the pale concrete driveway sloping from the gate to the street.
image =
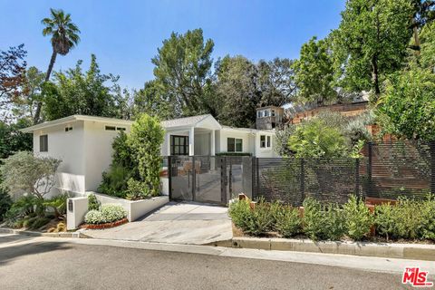
POLYGON ((94 238, 204 245, 232 238, 227 208, 169 202, 150 216, 108 229, 84 230, 94 238))

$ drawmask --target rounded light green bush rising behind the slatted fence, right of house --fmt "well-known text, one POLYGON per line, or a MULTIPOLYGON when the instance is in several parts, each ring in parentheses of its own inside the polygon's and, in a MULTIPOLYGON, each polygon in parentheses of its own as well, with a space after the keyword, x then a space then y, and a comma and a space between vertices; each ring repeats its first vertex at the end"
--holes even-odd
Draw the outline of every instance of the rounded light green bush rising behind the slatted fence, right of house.
POLYGON ((288 139, 289 150, 297 158, 334 158, 347 154, 346 140, 336 128, 324 121, 313 119, 304 122, 288 139))

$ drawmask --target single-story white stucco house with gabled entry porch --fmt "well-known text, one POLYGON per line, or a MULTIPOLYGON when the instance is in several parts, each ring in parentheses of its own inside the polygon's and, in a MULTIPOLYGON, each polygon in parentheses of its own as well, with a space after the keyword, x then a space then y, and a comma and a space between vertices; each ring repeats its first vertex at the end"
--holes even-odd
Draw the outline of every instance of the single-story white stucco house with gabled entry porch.
MULTIPOLYGON (((73 115, 25 128, 34 135, 34 154, 63 160, 57 189, 84 194, 95 191, 102 171, 111 164, 111 143, 120 131, 129 132, 132 121, 73 115)), ((276 157, 275 131, 222 126, 213 116, 199 115, 162 121, 165 139, 162 156, 249 153, 276 157)))

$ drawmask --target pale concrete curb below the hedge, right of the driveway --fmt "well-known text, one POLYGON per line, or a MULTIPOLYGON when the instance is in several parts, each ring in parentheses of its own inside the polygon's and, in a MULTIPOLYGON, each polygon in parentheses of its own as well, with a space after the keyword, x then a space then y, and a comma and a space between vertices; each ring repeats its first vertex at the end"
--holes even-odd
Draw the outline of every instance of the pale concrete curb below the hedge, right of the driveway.
POLYGON ((314 242, 310 239, 233 237, 231 241, 209 243, 208 246, 435 261, 435 245, 421 244, 314 242))

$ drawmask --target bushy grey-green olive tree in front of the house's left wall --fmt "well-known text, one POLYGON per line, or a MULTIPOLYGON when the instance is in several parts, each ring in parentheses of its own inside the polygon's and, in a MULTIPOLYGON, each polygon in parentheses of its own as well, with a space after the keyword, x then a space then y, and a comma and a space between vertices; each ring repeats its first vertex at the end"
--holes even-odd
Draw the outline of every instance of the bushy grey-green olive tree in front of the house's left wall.
POLYGON ((52 157, 34 157, 31 152, 20 151, 4 162, 0 168, 4 189, 8 189, 11 195, 23 190, 43 198, 53 188, 54 174, 62 161, 52 157))

